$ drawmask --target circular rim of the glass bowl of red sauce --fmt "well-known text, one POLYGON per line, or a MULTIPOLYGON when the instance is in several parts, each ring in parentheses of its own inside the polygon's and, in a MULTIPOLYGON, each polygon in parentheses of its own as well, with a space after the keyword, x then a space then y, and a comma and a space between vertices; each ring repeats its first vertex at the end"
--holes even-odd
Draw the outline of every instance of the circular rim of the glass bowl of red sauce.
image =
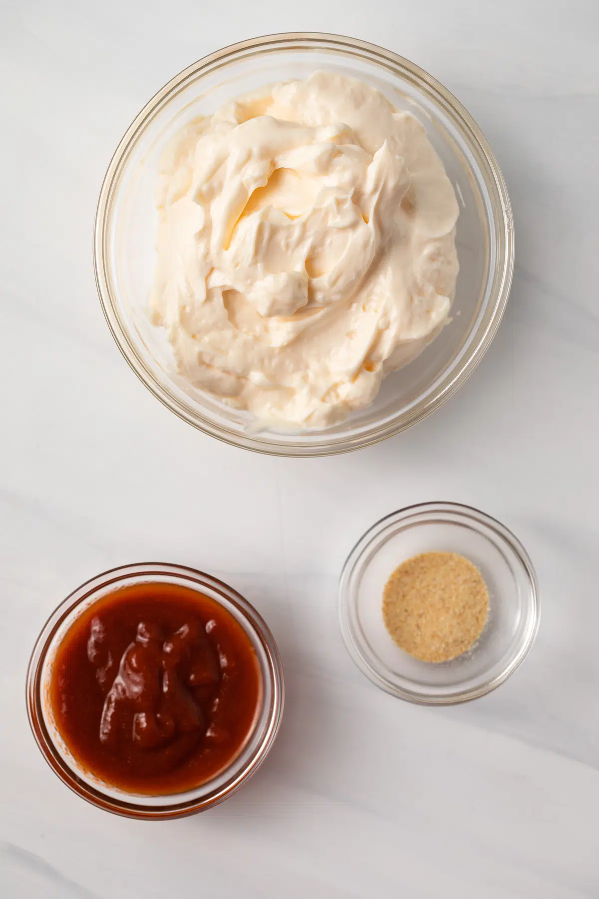
MULTIPOLYGON (((76 587, 57 605, 57 608, 51 613, 41 629, 40 636, 37 637, 31 652, 26 679, 26 704, 31 732, 41 754, 48 762, 49 767, 57 774, 57 777, 68 788, 73 790, 77 796, 82 797, 91 803, 92 806, 103 808, 113 814, 137 818, 138 820, 164 820, 196 814, 216 806, 232 796, 260 768, 260 765, 272 748, 281 723, 285 706, 285 684, 283 667, 275 638, 260 612, 241 593, 212 574, 198 571, 198 569, 191 568, 189 565, 174 565, 165 562, 138 562, 109 568, 107 571, 95 575, 76 587), (102 792, 101 788, 94 788, 84 782, 57 751, 56 744, 48 732, 43 715, 42 672, 48 649, 61 624, 72 611, 84 603, 84 601, 89 600, 94 593, 100 592, 103 588, 112 584, 115 586, 119 583, 125 584, 129 578, 144 574, 147 574, 150 580, 152 575, 154 577, 155 575, 168 575, 179 579, 183 585, 189 586, 193 584, 196 589, 199 587, 200 590, 204 585, 216 593, 220 592, 228 601, 232 602, 236 609, 242 613, 242 618, 249 622, 251 628, 253 628, 260 639, 260 645, 266 658, 266 667, 262 670, 262 676, 269 680, 269 687, 272 692, 268 720, 264 726, 264 733, 260 737, 260 743, 256 747, 255 752, 234 775, 233 779, 226 781, 216 791, 208 792, 204 797, 192 797, 177 802, 179 794, 173 793, 172 803, 160 806, 152 806, 147 803, 145 805, 137 805, 129 797, 122 799, 111 797, 107 793, 102 792)), ((209 784, 209 781, 207 783, 209 784)), ((147 800, 148 797, 145 797, 145 799, 147 800)))

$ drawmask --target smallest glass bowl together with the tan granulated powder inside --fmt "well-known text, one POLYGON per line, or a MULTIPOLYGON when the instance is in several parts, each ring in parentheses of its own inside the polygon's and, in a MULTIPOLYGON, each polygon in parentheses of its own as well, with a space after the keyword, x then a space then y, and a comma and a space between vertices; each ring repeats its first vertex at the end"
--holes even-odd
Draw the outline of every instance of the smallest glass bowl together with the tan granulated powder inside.
POLYGON ((377 521, 339 582, 341 632, 383 690, 450 705, 495 690, 530 651, 539 591, 505 525, 458 503, 423 503, 377 521))

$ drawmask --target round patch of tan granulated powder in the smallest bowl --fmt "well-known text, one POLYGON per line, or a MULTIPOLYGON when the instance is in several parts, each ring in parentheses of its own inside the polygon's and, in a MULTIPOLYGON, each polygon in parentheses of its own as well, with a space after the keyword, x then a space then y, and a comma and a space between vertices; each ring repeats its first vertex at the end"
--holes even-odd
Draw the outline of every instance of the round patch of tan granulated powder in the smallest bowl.
POLYGON ((395 643, 422 662, 448 662, 478 640, 489 615, 479 569, 457 553, 422 553, 396 568, 383 591, 395 643))

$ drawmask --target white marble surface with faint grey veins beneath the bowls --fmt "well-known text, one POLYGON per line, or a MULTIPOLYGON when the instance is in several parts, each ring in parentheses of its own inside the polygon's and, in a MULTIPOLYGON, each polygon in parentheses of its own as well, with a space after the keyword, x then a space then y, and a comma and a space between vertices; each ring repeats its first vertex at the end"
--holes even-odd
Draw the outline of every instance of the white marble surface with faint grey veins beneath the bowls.
POLYGON ((5 899, 599 895, 599 4, 595 0, 20 0, 0 10, 0 892, 5 899), (515 281, 489 354, 424 423, 313 461, 220 445, 112 342, 92 272, 110 154, 194 59, 267 31, 412 58, 465 103, 511 192, 515 281), (472 503, 542 588, 524 666, 459 708, 376 690, 341 645, 340 565, 393 509, 472 503), (146 558, 219 573, 264 613, 287 708, 210 813, 87 806, 29 732, 31 645, 67 592, 146 558))

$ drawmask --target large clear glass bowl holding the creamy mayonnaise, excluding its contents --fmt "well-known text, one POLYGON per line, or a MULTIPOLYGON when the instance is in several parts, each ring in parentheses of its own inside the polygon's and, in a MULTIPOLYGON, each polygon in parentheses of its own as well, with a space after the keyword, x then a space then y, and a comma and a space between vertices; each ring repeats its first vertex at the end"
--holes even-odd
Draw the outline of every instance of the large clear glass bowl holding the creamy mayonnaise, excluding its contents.
POLYGON ((244 449, 322 456, 359 449, 418 422, 445 402, 489 347, 507 303, 514 231, 506 184, 479 127, 435 78, 390 50, 330 34, 245 40, 186 68, 139 113, 112 157, 101 188, 93 239, 104 314, 120 351, 146 387, 201 431, 244 449), (274 82, 324 68, 373 85, 412 112, 443 160, 460 203, 460 260, 453 320, 420 356, 384 378, 374 403, 322 431, 258 431, 251 415, 192 387, 177 372, 163 328, 151 324, 163 147, 189 120, 274 82))

